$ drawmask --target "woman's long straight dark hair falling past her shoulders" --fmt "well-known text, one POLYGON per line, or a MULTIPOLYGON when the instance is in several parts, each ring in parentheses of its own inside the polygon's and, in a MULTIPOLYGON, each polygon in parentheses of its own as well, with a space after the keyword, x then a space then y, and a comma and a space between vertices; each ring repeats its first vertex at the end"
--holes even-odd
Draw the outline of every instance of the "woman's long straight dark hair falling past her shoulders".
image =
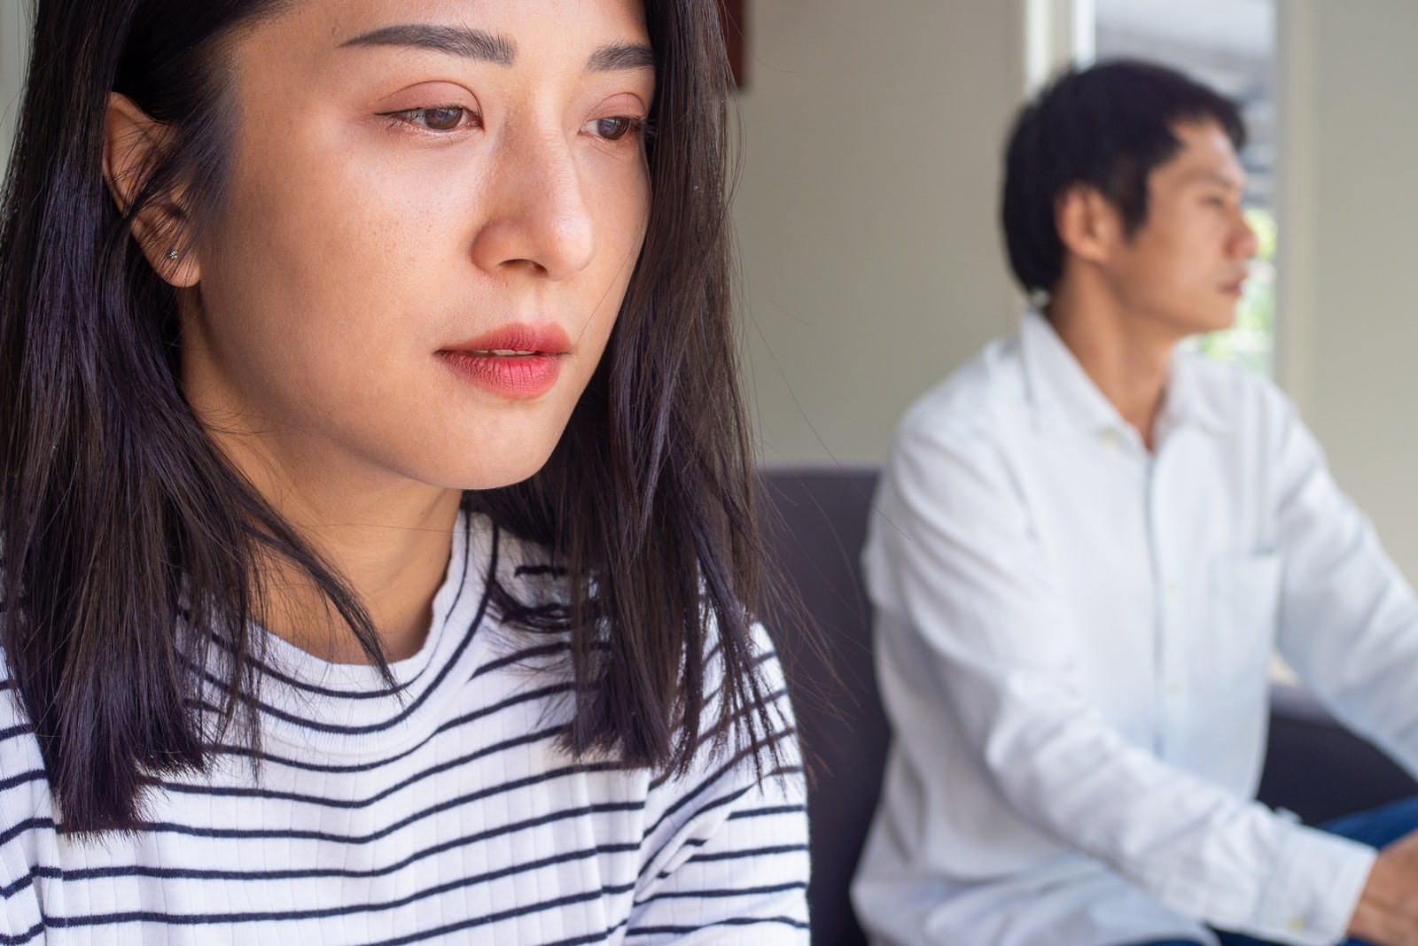
MULTIPOLYGON (((153 776, 206 765, 203 667, 221 668, 221 725, 259 739, 264 557, 303 568, 390 678, 357 596, 183 399, 176 290, 129 232, 179 187, 193 229, 220 210, 224 44, 291 3, 38 3, 0 220, 0 647, 69 831, 138 827, 153 776), (101 176, 111 91, 173 130, 126 214, 101 176)), ((760 544, 729 289, 730 78, 713 0, 645 13, 652 205, 620 320, 549 463, 467 504, 567 568, 567 748, 675 770, 700 731, 752 752, 774 736, 744 606, 760 544)))

